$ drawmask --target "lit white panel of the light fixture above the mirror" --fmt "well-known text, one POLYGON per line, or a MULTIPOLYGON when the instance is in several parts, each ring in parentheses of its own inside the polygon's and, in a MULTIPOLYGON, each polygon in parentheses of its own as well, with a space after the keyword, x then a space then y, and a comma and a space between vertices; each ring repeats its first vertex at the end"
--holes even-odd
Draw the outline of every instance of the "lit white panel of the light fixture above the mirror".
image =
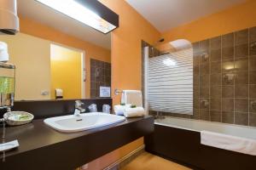
POLYGON ((66 14, 67 16, 73 18, 74 20, 78 20, 84 23, 85 25, 96 29, 97 31, 101 31, 104 34, 108 33, 109 31, 113 31, 115 28, 118 27, 118 25, 116 26, 115 23, 111 22, 111 20, 104 19, 105 17, 102 17, 102 14, 100 14, 102 12, 98 13, 98 11, 103 11, 106 15, 109 15, 108 13, 113 13, 113 11, 111 11, 110 9, 102 5, 102 3, 99 3, 96 0, 93 0, 93 1, 36 0, 36 1, 38 1, 39 3, 43 3, 44 5, 47 5, 50 8, 54 8, 56 11, 59 11, 62 14, 66 14), (104 8, 105 10, 102 10, 102 8, 104 8))

